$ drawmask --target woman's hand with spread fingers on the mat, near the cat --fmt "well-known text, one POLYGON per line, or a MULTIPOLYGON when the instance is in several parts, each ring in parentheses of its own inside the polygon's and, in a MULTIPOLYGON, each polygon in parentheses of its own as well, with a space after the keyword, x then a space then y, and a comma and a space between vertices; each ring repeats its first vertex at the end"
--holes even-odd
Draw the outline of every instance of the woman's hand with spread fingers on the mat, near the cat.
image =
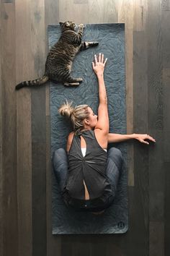
POLYGON ((102 76, 104 73, 104 67, 107 62, 107 59, 104 60, 104 54, 99 54, 97 56, 94 55, 94 61, 92 62, 92 67, 94 70, 94 73, 97 74, 97 76, 102 76))

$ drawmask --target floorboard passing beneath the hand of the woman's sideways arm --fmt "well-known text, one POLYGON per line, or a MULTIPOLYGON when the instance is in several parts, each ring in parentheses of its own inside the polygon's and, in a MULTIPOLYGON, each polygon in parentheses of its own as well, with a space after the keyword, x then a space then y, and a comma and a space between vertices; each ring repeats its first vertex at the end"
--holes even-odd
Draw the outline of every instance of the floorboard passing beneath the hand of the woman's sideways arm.
MULTIPOLYGON (((148 131, 148 80, 147 80, 147 43, 146 33, 133 33, 133 97, 134 97, 134 132, 148 131)), ((148 253, 148 148, 134 144, 135 170, 135 247, 140 255, 148 253), (140 225, 139 225, 140 223, 140 225), (142 223, 142 225, 141 225, 142 223), (140 232, 137 230, 140 229, 140 232), (139 234, 140 233, 140 234, 139 234)))

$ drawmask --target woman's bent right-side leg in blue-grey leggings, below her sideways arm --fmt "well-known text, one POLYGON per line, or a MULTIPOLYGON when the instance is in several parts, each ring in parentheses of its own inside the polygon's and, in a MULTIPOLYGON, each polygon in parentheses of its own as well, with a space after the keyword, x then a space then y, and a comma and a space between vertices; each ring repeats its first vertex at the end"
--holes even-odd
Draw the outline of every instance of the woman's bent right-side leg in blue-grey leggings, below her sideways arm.
POLYGON ((122 153, 117 148, 110 148, 107 153, 107 170, 106 174, 112 187, 112 195, 115 197, 117 184, 122 171, 122 153))

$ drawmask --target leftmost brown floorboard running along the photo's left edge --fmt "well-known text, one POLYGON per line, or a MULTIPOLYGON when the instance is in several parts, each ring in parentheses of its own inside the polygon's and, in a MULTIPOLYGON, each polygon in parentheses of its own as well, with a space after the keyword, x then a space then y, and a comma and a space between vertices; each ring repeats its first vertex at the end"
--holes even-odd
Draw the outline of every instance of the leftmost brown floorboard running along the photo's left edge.
POLYGON ((2 143, 2 217, 3 255, 18 255, 17 168, 16 168, 16 95, 15 82, 15 13, 14 4, 1 4, 1 143, 2 143), (10 75, 9 75, 10 74, 10 75))

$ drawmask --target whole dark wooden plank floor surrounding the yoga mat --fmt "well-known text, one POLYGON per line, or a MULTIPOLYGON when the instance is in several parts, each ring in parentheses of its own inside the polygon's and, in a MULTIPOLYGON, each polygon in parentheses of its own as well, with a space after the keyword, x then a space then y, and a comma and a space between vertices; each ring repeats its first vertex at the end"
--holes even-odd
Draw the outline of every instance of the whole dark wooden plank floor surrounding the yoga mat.
POLYGON ((0 255, 170 255, 170 1, 1 0, 0 255), (43 74, 47 26, 125 22, 129 225, 123 235, 51 234, 49 86, 14 91, 43 74))

